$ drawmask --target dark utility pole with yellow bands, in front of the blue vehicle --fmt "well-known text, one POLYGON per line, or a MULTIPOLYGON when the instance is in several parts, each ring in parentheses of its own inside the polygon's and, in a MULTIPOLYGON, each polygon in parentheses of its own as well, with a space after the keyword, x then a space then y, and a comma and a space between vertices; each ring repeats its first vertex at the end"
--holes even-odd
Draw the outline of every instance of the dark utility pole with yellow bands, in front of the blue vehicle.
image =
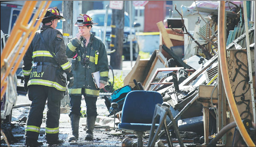
POLYGON ((122 53, 123 53, 123 36, 124 36, 124 16, 125 9, 112 9, 111 20, 111 51, 116 50, 110 54, 110 65, 113 69, 122 69, 122 53))

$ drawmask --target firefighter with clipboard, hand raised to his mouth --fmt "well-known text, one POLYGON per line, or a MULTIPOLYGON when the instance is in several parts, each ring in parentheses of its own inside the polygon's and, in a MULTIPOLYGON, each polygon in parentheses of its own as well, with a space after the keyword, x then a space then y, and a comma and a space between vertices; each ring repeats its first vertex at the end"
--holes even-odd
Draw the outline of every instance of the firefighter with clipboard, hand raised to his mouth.
POLYGON ((104 88, 108 81, 108 57, 105 45, 101 40, 90 33, 93 23, 91 17, 80 14, 77 17, 75 26, 78 26, 79 33, 67 44, 66 54, 71 60, 71 70, 74 74, 74 84, 69 87, 70 95, 70 120, 72 135, 69 141, 79 138, 79 119, 81 116, 81 95, 84 95, 87 114, 86 140, 93 140, 93 129, 97 117, 96 101, 99 96, 99 89, 104 88), (100 85, 96 88, 91 73, 99 71, 100 85))

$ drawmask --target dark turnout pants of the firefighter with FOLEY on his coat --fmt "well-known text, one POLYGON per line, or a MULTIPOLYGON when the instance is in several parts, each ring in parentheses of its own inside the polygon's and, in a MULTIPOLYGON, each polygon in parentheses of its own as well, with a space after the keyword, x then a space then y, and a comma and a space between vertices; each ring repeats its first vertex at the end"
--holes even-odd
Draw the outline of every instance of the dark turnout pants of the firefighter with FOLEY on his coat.
POLYGON ((43 119, 43 111, 47 102, 47 119, 45 137, 47 141, 58 139, 61 99, 64 91, 43 85, 29 85, 29 100, 32 101, 25 129, 25 138, 38 140, 40 126, 43 119))

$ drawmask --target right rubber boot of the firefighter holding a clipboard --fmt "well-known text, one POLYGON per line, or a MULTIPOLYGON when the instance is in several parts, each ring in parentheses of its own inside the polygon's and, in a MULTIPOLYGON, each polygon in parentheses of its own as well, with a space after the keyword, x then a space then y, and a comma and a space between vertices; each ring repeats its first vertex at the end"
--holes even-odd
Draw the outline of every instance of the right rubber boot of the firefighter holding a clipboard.
POLYGON ((85 140, 93 140, 93 129, 97 116, 87 116, 85 140))

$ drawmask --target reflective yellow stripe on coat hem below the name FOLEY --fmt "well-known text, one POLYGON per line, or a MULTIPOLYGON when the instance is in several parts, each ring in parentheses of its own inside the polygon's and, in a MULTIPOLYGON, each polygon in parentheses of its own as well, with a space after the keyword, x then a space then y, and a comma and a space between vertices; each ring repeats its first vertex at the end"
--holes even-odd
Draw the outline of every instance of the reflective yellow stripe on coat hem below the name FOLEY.
POLYGON ((28 86, 29 85, 44 85, 44 86, 54 87, 61 91, 66 90, 66 87, 61 86, 57 82, 52 82, 52 81, 48 81, 48 80, 44 80, 44 79, 31 79, 28 82, 28 86))

